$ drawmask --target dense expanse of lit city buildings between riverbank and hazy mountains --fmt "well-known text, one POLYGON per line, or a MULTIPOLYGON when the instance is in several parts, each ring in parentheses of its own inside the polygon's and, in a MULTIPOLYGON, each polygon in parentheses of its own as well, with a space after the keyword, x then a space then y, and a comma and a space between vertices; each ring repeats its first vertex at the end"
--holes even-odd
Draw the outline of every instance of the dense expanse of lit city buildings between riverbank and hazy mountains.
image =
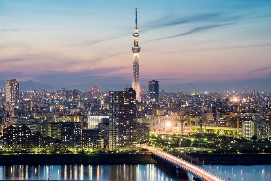
POLYGON ((135 151, 136 143, 270 152, 270 93, 159 92, 156 80, 141 85, 140 103, 132 88, 20 91, 12 79, 1 90, 2 153, 135 151))

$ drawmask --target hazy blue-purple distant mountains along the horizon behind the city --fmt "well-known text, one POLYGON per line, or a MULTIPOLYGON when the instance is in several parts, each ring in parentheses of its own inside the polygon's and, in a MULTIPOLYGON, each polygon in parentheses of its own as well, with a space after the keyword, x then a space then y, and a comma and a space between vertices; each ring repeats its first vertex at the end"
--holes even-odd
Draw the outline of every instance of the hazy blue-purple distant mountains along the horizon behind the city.
MULTIPOLYGON (((82 91, 87 91, 90 89, 90 86, 97 85, 100 87, 102 91, 109 88, 109 90, 123 90, 124 87, 128 87, 131 85, 126 85, 123 83, 117 84, 107 84, 107 83, 86 83, 86 84, 77 84, 77 85, 48 85, 36 83, 33 80, 28 80, 25 82, 18 81, 20 85, 20 90, 36 90, 40 91, 42 89, 49 89, 50 91, 54 91, 60 88, 66 89, 79 89, 82 91)), ((5 87, 5 80, 0 80, 0 86, 5 87)), ((146 90, 148 86, 146 85, 146 90)), ((193 89, 196 92, 223 92, 225 90, 236 90, 244 92, 247 87, 248 92, 251 90, 256 90, 257 92, 271 92, 271 78, 266 79, 247 79, 247 80, 232 80, 226 82, 213 82, 213 83, 185 83, 185 84, 176 84, 176 85, 163 85, 159 84, 159 91, 164 90, 168 91, 182 91, 182 92, 192 92, 193 89)))

